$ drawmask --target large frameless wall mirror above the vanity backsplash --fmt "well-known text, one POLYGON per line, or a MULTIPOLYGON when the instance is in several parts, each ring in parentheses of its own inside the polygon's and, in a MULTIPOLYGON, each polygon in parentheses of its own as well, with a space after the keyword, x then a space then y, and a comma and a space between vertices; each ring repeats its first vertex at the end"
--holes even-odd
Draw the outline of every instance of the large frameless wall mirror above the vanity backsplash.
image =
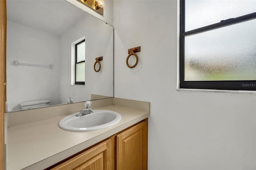
POLYGON ((7 111, 20 110, 26 101, 58 105, 68 97, 73 102, 91 100, 92 94, 113 97, 113 45, 112 26, 66 0, 7 0, 7 111), (74 85, 74 44, 81 40, 85 85, 74 85))

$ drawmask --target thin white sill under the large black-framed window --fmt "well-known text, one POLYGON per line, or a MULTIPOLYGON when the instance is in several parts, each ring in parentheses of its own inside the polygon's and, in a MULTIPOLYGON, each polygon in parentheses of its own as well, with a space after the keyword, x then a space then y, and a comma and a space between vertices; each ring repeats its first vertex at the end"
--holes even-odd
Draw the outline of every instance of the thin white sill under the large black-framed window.
POLYGON ((240 91, 240 90, 177 89, 177 91, 197 91, 197 92, 211 92, 211 93, 231 93, 231 94, 256 95, 256 91, 240 91))

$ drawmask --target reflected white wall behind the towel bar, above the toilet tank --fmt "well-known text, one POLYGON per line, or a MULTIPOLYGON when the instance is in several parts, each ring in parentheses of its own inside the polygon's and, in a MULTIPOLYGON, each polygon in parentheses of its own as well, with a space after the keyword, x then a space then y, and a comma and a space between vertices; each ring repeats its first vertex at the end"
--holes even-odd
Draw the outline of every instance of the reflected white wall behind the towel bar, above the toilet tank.
POLYGON ((7 22, 6 75, 8 111, 20 108, 25 101, 50 99, 59 101, 60 38, 53 34, 7 22), (13 61, 53 65, 53 69, 13 66, 13 61), (52 95, 54 94, 54 95, 52 95))

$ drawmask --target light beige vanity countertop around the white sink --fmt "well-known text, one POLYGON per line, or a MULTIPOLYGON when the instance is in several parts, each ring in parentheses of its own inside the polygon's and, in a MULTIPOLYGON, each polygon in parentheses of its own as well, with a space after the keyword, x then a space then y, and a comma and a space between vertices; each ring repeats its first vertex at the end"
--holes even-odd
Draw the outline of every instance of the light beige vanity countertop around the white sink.
POLYGON ((122 119, 112 127, 89 132, 63 130, 58 126, 58 122, 65 116, 10 127, 7 170, 47 168, 150 116, 148 111, 116 105, 97 109, 118 112, 122 119))

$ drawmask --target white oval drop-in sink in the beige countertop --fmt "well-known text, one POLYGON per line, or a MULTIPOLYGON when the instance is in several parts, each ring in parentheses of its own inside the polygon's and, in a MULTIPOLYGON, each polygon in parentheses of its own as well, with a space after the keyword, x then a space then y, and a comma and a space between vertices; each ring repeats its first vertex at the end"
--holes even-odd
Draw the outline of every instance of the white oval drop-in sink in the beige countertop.
POLYGON ((121 115, 114 111, 92 110, 93 113, 76 117, 79 113, 68 115, 60 120, 59 127, 69 131, 92 131, 108 128, 121 120, 121 115))

